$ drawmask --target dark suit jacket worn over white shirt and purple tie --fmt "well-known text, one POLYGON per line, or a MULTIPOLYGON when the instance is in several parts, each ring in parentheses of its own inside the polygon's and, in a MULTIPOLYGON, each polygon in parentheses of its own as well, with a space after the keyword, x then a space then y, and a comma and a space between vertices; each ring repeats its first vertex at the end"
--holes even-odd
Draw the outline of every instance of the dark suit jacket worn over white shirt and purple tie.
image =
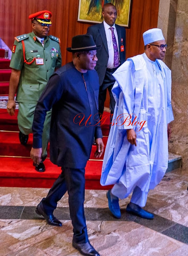
MULTIPOLYGON (((123 64, 123 62, 125 62, 125 28, 123 28, 119 25, 115 25, 115 26, 116 26, 116 30, 117 30, 117 34, 118 34, 120 62, 121 62, 121 64, 123 64), (121 52, 121 50, 120 50, 121 38, 123 39, 124 52, 121 52)), ((97 50, 98 62, 95 67, 95 69, 98 73, 98 76, 99 76, 99 84, 101 86, 103 83, 103 80, 104 80, 107 63, 108 63, 108 58, 109 58, 108 45, 107 45, 106 33, 104 30, 103 22, 100 24, 90 26, 87 30, 87 33, 92 35, 96 45, 102 45, 102 47, 97 50)))

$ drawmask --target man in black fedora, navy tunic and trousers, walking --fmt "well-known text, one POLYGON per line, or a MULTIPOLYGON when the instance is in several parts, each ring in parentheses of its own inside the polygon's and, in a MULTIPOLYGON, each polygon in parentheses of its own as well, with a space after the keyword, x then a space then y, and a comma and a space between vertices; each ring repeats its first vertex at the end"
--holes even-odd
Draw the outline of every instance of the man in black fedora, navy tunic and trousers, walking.
POLYGON ((41 159, 41 135, 45 115, 52 108, 50 127, 50 160, 61 166, 62 173, 36 208, 47 223, 62 226, 53 211, 66 191, 73 226, 72 246, 82 255, 99 256, 88 240, 84 216, 85 166, 89 159, 93 137, 96 139, 95 157, 102 155, 102 132, 97 125, 99 81, 94 70, 97 62, 96 46, 91 35, 72 38, 72 62, 55 72, 39 99, 33 120, 33 148, 31 158, 41 159))

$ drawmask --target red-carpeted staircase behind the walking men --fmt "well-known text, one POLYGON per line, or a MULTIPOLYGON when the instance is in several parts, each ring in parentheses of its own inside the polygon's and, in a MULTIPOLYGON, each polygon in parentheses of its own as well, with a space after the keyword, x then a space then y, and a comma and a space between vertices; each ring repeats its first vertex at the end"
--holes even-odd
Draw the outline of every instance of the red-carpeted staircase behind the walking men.
MULTIPOLYGON (((30 158, 32 134, 29 134, 29 140, 26 146, 20 144, 17 124, 18 109, 15 111, 15 116, 8 115, 6 111, 11 70, 9 68, 10 60, 2 57, 4 53, 1 50, 2 49, 0 49, 0 186, 49 188, 61 173, 61 168, 52 164, 48 156, 45 160, 46 171, 43 173, 36 172, 30 158)), ((110 118, 106 121, 104 126, 102 126, 105 146, 108 139, 109 122, 110 118)), ((100 185, 104 154, 101 159, 96 160, 94 159, 95 150, 96 146, 92 146, 90 159, 86 165, 86 189, 108 190, 112 186, 100 185)), ((180 165, 181 156, 170 154, 166 172, 179 168, 180 165)))

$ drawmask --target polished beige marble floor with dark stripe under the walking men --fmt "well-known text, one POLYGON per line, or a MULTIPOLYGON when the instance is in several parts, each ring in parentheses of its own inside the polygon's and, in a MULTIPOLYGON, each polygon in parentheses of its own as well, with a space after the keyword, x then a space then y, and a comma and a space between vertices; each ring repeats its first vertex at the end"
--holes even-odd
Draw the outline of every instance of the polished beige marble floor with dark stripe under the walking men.
MULTIPOLYGON (((188 256, 188 170, 165 175, 149 192, 145 209, 153 220, 126 213, 130 200, 120 201, 120 220, 108 210, 105 190, 86 190, 85 215, 91 244, 100 256, 188 256)), ((48 192, 44 188, 0 188, 0 256, 79 256, 72 248, 67 194, 54 214, 53 227, 35 214, 48 192)))

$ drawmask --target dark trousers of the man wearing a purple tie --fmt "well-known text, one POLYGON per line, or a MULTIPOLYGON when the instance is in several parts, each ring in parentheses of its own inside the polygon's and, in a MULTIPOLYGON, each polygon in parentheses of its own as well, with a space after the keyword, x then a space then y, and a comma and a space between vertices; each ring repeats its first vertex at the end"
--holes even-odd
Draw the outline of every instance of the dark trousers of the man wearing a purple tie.
POLYGON ((116 71, 116 69, 117 68, 112 68, 112 69, 107 68, 106 69, 104 81, 99 88, 98 105, 99 105, 99 113, 101 113, 101 117, 104 112, 104 102, 106 100, 107 89, 110 94, 110 114, 111 114, 110 123, 112 122, 112 115, 114 114, 114 108, 116 105, 116 101, 114 100, 114 96, 112 94, 112 87, 114 86, 114 83, 116 82, 116 80, 114 79, 112 74, 116 71))

